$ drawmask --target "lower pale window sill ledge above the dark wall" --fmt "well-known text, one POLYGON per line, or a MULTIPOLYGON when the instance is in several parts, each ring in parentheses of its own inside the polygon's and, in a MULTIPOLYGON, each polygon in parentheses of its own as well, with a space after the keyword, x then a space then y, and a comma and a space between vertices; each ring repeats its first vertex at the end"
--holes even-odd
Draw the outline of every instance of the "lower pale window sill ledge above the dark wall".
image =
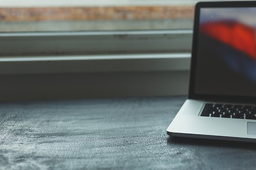
POLYGON ((188 71, 191 54, 1 57, 0 74, 188 71))

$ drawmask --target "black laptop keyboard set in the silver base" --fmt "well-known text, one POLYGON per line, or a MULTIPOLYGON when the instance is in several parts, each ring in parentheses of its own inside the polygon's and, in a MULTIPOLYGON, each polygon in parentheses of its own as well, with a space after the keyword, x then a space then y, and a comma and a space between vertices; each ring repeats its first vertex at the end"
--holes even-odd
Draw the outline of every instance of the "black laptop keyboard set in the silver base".
POLYGON ((256 106, 206 103, 201 116, 256 120, 256 106))

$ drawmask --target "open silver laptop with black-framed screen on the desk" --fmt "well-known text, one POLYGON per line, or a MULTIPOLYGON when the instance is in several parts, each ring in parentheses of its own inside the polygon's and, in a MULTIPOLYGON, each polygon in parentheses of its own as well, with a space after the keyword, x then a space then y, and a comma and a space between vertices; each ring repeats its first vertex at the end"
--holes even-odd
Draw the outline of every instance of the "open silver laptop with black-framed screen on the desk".
POLYGON ((256 142, 256 1, 196 4, 188 99, 167 134, 256 142))

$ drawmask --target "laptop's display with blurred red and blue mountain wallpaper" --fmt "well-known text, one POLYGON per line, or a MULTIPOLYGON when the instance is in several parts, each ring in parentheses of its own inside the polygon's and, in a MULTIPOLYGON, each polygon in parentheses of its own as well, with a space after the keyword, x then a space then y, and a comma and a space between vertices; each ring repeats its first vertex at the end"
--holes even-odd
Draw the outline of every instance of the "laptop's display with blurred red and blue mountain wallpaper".
POLYGON ((256 96, 256 8, 200 8, 194 93, 256 96))

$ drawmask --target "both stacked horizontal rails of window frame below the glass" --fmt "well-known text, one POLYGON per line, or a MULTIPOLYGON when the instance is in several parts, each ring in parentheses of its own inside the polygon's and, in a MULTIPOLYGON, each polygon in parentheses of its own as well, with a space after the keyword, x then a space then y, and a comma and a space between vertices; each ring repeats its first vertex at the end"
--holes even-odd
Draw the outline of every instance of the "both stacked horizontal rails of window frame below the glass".
POLYGON ((192 30, 1 33, 0 74, 188 71, 191 42, 192 30))

